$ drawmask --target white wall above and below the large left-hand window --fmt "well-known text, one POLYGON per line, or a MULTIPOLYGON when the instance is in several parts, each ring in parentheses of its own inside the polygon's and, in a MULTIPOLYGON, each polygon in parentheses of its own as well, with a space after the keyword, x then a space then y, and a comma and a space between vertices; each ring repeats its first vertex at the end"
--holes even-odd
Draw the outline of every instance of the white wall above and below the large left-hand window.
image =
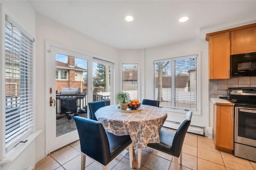
MULTIPOLYGON (((10 18, 16 22, 22 29, 26 30, 30 36, 35 37, 36 35, 36 12, 28 1, 5 1, 1 0, 2 11, 1 18, 7 14, 10 18)), ((4 22, 2 22, 4 23, 4 22)), ((2 32, 1 32, 2 34, 2 32)), ((34 56, 36 56, 34 54, 34 56)), ((4 57, 4 55, 2 55, 4 57)), ((1 59, 2 60, 2 59, 1 59)), ((2 81, 1 81, 2 82, 2 81)), ((3 93, 4 94, 4 93, 3 93)), ((2 103, 2 101, 1 101, 2 103)), ((3 112, 4 113, 4 112, 3 112)), ((2 114, 2 111, 1 111, 2 114)), ((1 136, 2 138, 2 136, 1 136)), ((36 142, 35 140, 22 152, 13 162, 1 164, 0 169, 27 169, 28 167, 36 164, 38 160, 36 157, 36 142)))

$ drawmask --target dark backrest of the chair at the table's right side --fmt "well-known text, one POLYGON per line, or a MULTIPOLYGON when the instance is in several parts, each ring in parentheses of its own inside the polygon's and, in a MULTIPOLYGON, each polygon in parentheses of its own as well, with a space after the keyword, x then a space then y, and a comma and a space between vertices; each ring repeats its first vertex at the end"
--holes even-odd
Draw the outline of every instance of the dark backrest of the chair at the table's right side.
POLYGON ((180 127, 177 129, 173 142, 172 142, 172 153, 174 156, 179 157, 183 146, 184 138, 188 127, 191 122, 192 112, 186 113, 183 121, 180 123, 180 127))

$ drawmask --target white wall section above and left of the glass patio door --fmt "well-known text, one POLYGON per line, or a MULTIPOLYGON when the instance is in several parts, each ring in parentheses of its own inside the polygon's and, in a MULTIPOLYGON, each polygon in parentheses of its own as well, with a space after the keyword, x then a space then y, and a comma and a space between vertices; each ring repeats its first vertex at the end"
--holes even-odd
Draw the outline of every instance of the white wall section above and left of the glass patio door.
MULTIPOLYGON (((36 139, 36 160, 46 156, 46 109, 45 109, 45 42, 46 40, 65 45, 72 49, 84 51, 99 59, 118 60, 118 50, 104 43, 98 42, 88 36, 76 32, 71 28, 59 24, 50 18, 46 18, 41 14, 36 14, 36 81, 37 81, 37 108, 36 108, 36 128, 41 129, 42 133, 36 139), (39 121, 40 120, 40 121, 39 121), (39 147, 40 146, 40 147, 39 147)), ((115 64, 117 65, 117 64, 115 64)), ((119 68, 114 68, 118 70, 119 68)), ((117 71, 118 72, 118 71, 117 71)))

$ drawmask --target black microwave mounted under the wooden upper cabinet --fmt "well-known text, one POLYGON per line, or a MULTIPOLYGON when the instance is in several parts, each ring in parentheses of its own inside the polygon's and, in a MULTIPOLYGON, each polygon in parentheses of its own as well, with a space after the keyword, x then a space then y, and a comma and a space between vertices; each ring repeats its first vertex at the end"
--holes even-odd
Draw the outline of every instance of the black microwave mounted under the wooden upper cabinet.
POLYGON ((256 76, 256 52, 230 55, 230 76, 256 76))

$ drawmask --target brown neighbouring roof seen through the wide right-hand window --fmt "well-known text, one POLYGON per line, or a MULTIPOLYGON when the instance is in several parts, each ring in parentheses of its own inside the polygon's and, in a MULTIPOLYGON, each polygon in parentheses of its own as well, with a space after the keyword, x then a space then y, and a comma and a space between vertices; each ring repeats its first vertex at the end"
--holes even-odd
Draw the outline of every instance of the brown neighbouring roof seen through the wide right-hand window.
MULTIPOLYGON (((156 87, 159 86, 158 78, 156 78, 156 87)), ((176 76, 176 87, 187 87, 188 75, 176 76)), ((162 87, 172 87, 172 77, 162 77, 162 87)))

